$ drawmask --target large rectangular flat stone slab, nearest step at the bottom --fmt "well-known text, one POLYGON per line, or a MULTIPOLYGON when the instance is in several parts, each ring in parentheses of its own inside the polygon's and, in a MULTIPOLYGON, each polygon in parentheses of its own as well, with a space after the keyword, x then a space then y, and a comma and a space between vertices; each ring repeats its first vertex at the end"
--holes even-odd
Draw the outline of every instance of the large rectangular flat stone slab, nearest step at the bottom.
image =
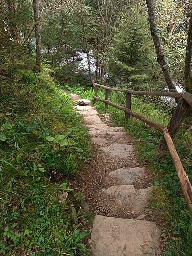
POLYGON ((91 233, 95 256, 159 256, 160 230, 153 222, 96 215, 91 233))

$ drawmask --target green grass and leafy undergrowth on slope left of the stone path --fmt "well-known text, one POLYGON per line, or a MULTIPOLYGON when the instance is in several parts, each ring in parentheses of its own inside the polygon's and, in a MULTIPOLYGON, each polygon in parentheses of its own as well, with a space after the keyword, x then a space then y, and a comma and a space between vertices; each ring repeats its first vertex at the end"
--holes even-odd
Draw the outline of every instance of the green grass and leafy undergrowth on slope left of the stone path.
POLYGON ((90 158, 88 133, 48 65, 34 73, 32 61, 0 66, 0 255, 85 255, 83 195, 67 180, 90 158))

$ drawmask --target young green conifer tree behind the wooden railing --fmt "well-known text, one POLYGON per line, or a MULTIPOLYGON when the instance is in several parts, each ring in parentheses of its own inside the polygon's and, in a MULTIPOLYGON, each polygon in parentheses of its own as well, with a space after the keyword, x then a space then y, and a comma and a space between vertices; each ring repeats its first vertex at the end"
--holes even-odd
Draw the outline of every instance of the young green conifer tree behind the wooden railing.
POLYGON ((121 16, 110 46, 109 69, 127 81, 148 80, 146 66, 150 63, 152 43, 144 6, 136 1, 121 16))

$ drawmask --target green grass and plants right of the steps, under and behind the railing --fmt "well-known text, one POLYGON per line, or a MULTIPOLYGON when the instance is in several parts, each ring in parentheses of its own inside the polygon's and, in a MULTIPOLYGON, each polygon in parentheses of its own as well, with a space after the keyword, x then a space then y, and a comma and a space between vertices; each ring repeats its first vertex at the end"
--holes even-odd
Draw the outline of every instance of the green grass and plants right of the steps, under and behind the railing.
MULTIPOLYGON (((74 86, 68 88, 83 98, 91 99, 93 89, 85 91, 83 87, 74 86)), ((105 98, 104 90, 98 89, 97 96, 105 98)), ((121 106, 125 106, 125 94, 110 92, 109 100, 121 106)), ((150 199, 150 212, 153 213, 157 223, 162 226, 163 253, 165 256, 192 255, 192 217, 183 197, 177 173, 173 166, 169 153, 164 156, 159 154, 157 147, 162 139, 162 134, 149 125, 131 117, 130 122, 125 122, 125 113, 104 103, 94 103, 100 113, 108 112, 112 115, 117 126, 124 126, 132 135, 135 146, 142 160, 151 163, 149 173, 152 176, 153 185, 156 186, 150 199)), ((132 110, 167 126, 173 109, 167 105, 150 103, 147 98, 132 95, 132 110)), ((174 143, 185 171, 192 182, 192 117, 188 116, 181 125, 180 131, 174 139, 174 143)))

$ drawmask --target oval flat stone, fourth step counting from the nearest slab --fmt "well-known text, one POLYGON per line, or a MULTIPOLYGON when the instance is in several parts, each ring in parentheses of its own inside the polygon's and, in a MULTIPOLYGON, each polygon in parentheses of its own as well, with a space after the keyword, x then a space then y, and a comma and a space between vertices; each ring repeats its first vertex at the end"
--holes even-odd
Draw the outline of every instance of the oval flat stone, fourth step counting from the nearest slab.
POLYGON ((133 152, 132 145, 113 143, 108 147, 100 148, 112 157, 128 158, 133 152))

